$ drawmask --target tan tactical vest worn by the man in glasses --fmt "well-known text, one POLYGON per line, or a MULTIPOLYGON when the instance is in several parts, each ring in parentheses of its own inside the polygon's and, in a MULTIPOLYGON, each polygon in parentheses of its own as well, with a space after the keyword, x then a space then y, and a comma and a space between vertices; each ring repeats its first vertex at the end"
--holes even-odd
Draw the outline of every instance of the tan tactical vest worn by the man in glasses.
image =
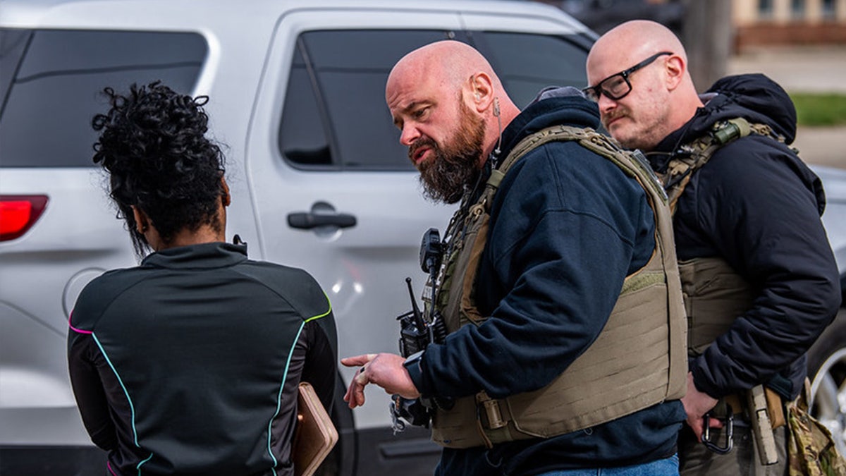
MULTIPOLYGON (((720 147, 740 137, 758 134, 776 136, 768 125, 750 124, 737 118, 717 122, 711 133, 685 145, 689 152, 684 158, 673 158, 667 174, 661 178, 667 188, 670 210, 674 214, 678 197, 684 192, 691 176, 705 165, 720 147)), ((752 289, 746 280, 720 257, 697 257, 678 263, 684 291, 684 308, 688 317, 688 352, 698 356, 728 332, 734 320, 752 307, 752 289)))

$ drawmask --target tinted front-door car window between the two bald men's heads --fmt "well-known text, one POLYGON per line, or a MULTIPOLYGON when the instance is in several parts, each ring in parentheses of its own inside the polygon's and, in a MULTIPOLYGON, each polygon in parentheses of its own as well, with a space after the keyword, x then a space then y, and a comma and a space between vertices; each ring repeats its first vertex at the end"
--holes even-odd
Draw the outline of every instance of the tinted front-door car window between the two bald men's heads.
POLYGON ((547 86, 587 86, 588 50, 577 38, 490 31, 474 38, 519 108, 547 86))

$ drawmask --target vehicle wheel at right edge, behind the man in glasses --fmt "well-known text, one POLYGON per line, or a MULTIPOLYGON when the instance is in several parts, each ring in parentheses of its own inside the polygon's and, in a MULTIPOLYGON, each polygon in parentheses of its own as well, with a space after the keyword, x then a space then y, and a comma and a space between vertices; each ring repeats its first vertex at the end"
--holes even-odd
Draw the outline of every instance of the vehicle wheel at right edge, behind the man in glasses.
POLYGON ((810 412, 832 431, 846 454, 846 308, 808 351, 810 412))

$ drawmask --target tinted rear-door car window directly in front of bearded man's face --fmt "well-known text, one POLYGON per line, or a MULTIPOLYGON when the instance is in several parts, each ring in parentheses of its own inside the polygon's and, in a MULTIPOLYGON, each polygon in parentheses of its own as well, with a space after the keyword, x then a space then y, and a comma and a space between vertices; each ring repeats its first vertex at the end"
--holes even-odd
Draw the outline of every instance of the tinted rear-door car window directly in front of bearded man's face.
POLYGON ((283 156, 306 167, 412 169, 385 105, 385 82, 405 53, 448 37, 437 30, 302 34, 279 128, 283 156))

